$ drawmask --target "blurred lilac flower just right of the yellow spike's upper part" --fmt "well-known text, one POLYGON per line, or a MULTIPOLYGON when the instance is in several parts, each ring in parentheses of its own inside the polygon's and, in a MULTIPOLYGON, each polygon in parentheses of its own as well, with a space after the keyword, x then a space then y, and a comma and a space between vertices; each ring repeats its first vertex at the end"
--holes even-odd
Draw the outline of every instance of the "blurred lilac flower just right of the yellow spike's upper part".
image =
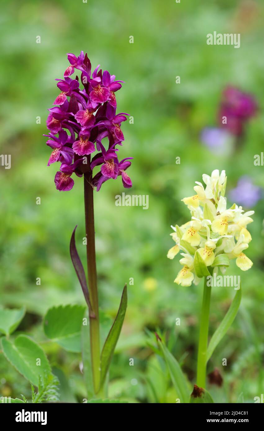
POLYGON ((255 186, 250 177, 243 176, 237 186, 229 191, 229 200, 245 207, 255 206, 262 197, 261 187, 255 186))

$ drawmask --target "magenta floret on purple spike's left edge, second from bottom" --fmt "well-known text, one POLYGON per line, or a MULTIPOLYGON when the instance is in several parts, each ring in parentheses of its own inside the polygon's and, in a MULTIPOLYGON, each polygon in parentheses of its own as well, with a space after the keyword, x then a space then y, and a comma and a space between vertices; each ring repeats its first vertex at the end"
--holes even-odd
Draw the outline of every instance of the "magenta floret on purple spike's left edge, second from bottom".
POLYGON ((47 145, 53 148, 53 152, 50 154, 50 158, 47 166, 50 166, 51 163, 57 162, 62 156, 65 163, 70 165, 72 163, 72 158, 74 152, 71 147, 67 147, 65 144, 70 142, 69 136, 65 130, 61 130, 59 133, 59 137, 54 136, 53 134, 43 135, 47 137, 51 137, 52 139, 48 139, 47 145))

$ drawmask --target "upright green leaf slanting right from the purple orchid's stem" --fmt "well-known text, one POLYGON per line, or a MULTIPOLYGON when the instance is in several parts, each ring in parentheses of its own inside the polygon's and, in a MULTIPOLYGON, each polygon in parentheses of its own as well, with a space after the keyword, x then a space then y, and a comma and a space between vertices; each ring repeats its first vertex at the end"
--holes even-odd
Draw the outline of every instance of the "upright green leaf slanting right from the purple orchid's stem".
POLYGON ((104 380, 106 378, 107 371, 110 367, 110 362, 116 347, 116 343, 119 338, 119 334, 121 332, 121 328, 126 314, 126 306, 127 306, 127 287, 125 284, 121 301, 120 301, 119 310, 116 315, 116 319, 114 320, 113 325, 107 336, 107 339, 105 340, 104 347, 101 353, 101 387, 104 384, 104 380))

